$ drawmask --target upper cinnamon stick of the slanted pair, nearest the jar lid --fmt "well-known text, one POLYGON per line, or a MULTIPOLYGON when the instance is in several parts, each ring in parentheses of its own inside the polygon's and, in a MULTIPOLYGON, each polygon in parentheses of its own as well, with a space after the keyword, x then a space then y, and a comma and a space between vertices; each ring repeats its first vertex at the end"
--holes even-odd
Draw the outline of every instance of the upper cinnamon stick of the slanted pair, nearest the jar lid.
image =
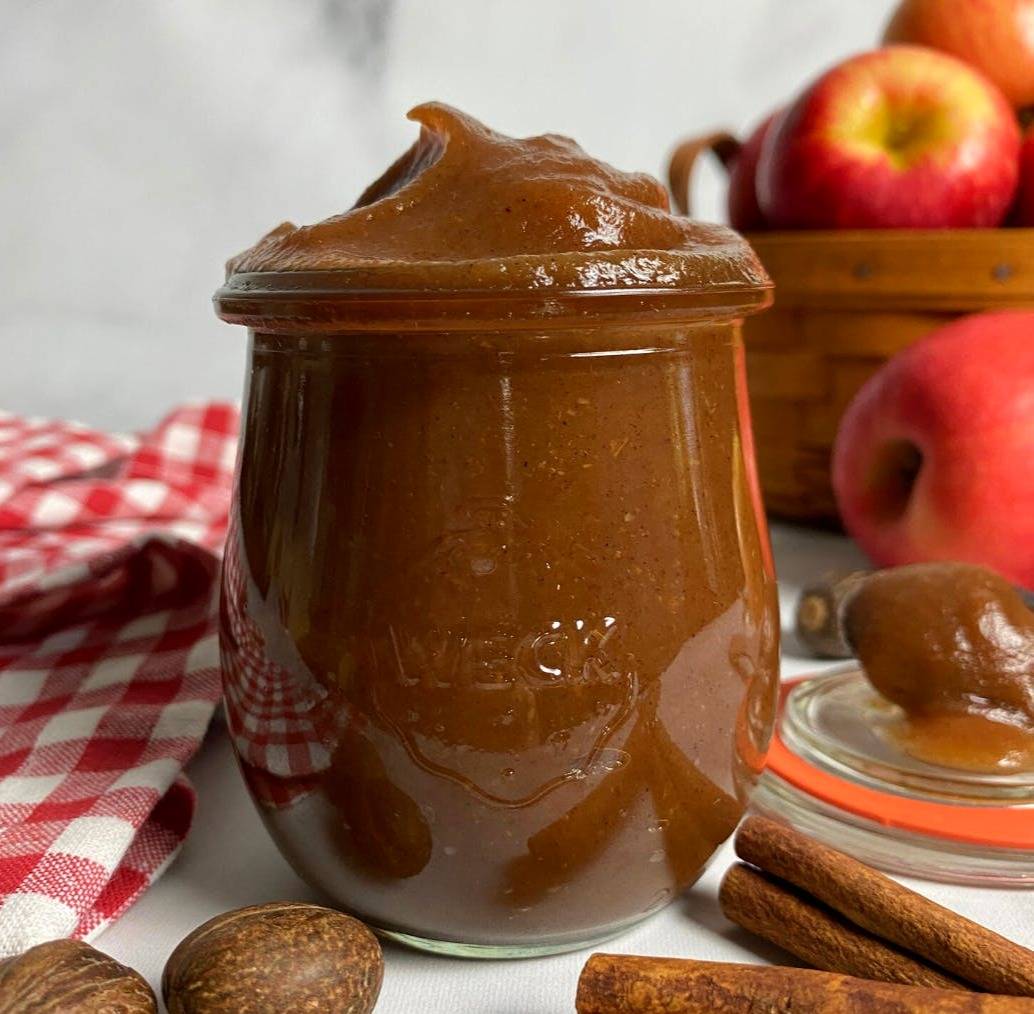
POLYGON ((1034 996, 1034 952, 776 821, 751 817, 736 854, 856 926, 993 993, 1034 996))

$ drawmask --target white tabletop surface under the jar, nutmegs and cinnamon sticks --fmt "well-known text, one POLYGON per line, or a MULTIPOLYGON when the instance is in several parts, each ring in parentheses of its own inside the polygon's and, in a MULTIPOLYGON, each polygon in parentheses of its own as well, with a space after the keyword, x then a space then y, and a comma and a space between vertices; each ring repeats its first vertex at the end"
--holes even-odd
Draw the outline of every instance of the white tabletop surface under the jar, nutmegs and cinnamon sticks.
MULTIPOLYGON (((847 540, 777 526, 772 531, 784 623, 800 584, 831 567, 863 565, 847 540)), ((816 669, 794 657, 785 638, 783 675, 816 669)), ((237 773, 221 723, 189 766, 197 816, 179 858, 147 894, 96 942, 143 973, 157 989, 161 967, 194 926, 227 909, 275 899, 320 900, 280 858, 237 773)), ((717 889, 732 858, 727 843, 708 871, 665 911, 611 941, 606 950, 723 961, 786 960, 731 926, 717 889)), ((1034 947, 1031 894, 909 881, 916 890, 1028 947, 1034 947)), ((463 961, 386 945, 377 1014, 557 1014, 574 1009, 575 984, 587 952, 523 961, 463 961)))

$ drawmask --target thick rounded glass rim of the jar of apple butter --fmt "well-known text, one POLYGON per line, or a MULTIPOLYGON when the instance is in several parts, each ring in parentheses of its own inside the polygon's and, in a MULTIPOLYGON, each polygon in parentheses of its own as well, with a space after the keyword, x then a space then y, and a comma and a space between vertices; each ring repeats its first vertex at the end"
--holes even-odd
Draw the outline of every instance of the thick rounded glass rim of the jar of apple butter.
POLYGON ((349 271, 241 272, 212 298, 229 324, 271 332, 519 330, 730 319, 757 313, 773 285, 746 280, 674 287, 377 288, 349 271), (351 282, 351 284, 349 284, 351 282))

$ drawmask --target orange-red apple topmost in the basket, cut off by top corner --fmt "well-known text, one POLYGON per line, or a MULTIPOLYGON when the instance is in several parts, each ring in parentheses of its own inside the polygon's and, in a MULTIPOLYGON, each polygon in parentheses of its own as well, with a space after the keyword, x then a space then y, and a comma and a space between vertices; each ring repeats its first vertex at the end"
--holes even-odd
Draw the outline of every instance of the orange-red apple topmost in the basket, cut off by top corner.
POLYGON ((883 40, 950 53, 1013 105, 1034 103, 1034 0, 903 0, 883 40))

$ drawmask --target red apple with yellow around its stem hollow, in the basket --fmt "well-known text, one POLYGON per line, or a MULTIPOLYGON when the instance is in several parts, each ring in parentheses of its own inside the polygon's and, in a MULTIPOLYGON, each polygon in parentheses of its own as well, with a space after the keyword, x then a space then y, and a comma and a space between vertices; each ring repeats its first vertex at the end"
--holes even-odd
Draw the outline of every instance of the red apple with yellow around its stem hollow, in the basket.
POLYGON ((780 117, 758 197, 781 228, 999 225, 1018 155, 994 85, 954 57, 896 45, 826 71, 780 117))

